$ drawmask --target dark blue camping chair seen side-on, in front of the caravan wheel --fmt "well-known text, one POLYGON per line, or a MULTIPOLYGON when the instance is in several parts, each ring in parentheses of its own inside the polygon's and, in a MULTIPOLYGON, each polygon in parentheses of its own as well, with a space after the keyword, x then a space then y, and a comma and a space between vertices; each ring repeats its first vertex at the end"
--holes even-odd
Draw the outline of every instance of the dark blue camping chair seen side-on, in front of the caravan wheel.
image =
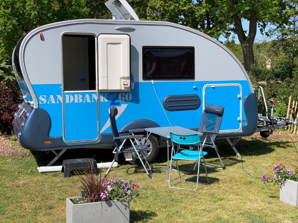
POLYGON ((111 123, 111 129, 112 129, 112 133, 114 136, 114 142, 115 142, 115 149, 113 151, 113 153, 115 154, 114 159, 111 163, 111 166, 108 168, 108 171, 106 172, 105 176, 106 177, 108 175, 108 173, 110 172, 114 162, 116 160, 118 160, 118 155, 119 153, 136 153, 136 155, 138 156, 139 160, 141 161, 147 175, 149 176, 149 178, 151 178, 151 171, 150 174, 146 168, 146 166, 149 168, 149 170, 151 170, 150 164, 147 161, 147 150, 148 150, 148 145, 147 145, 147 141, 145 140, 146 144, 140 144, 139 140, 137 139, 142 139, 144 137, 144 135, 126 135, 126 136, 119 136, 119 134, 123 134, 123 133, 127 133, 127 132, 118 132, 117 129, 117 125, 116 125, 116 115, 118 114, 118 109, 116 107, 111 107, 109 108, 109 117, 110 117, 110 123, 111 123), (123 142, 121 143, 121 140, 123 140, 123 142), (129 140, 131 142, 131 145, 129 146, 124 146, 124 144, 127 142, 127 140, 129 140), (136 145, 134 144, 133 140, 136 142, 136 145), (143 159, 145 160, 145 164, 142 161, 142 158, 140 156, 140 153, 142 154, 143 159), (145 154, 146 153, 146 154, 145 154))

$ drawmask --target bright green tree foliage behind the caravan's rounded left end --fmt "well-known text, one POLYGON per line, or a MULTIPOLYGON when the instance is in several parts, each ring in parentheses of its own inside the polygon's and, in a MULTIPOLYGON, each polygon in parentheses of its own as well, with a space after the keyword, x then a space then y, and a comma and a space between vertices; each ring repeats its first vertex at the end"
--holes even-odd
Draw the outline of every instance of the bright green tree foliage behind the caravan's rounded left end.
POLYGON ((28 31, 52 22, 88 18, 86 0, 0 0, 0 59, 10 59, 28 31))

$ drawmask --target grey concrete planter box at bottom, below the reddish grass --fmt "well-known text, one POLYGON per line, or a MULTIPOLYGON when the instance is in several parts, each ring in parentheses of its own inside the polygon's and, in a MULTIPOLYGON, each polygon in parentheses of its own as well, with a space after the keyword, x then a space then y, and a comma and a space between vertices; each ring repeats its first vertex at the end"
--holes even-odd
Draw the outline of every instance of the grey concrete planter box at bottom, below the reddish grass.
POLYGON ((129 202, 117 200, 73 204, 66 198, 66 223, 128 223, 129 202))

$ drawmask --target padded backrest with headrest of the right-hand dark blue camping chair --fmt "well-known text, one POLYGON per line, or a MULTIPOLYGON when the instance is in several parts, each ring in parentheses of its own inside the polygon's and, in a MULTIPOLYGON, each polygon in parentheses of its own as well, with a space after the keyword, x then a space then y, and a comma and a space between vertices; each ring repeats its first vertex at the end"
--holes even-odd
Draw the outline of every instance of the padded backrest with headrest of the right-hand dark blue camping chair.
MULTIPOLYGON (((224 107, 215 105, 206 105, 199 132, 217 132, 221 127, 221 120, 224 114, 224 107)), ((216 140, 217 135, 212 135, 213 141, 216 140)))

